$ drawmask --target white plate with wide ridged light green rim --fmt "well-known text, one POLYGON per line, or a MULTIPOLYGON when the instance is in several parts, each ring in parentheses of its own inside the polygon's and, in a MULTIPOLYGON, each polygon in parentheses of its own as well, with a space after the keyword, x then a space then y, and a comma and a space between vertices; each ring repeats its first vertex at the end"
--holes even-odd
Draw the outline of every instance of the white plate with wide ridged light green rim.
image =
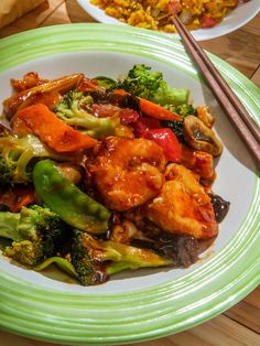
MULTIPOLYGON (((259 89, 221 60, 210 58, 259 121, 259 89)), ((11 93, 10 78, 29 71, 48 78, 78 72, 117 77, 136 63, 162 71, 170 84, 188 87, 196 105, 215 110, 225 151, 214 191, 231 202, 217 240, 188 269, 126 272, 106 284, 84 288, 0 258, 2 328, 78 345, 159 338, 215 316, 259 284, 259 180, 180 41, 128 26, 57 25, 1 40, 0 61, 1 99, 11 93)))

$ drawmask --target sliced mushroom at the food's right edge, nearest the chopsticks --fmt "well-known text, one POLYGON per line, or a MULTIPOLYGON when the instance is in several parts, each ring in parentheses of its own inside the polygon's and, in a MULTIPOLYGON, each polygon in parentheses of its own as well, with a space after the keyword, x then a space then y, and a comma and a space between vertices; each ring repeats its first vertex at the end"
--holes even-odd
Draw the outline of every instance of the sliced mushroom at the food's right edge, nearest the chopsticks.
POLYGON ((223 152, 223 144, 219 139, 197 117, 187 116, 184 118, 183 134, 192 148, 206 151, 214 156, 218 156, 223 152))

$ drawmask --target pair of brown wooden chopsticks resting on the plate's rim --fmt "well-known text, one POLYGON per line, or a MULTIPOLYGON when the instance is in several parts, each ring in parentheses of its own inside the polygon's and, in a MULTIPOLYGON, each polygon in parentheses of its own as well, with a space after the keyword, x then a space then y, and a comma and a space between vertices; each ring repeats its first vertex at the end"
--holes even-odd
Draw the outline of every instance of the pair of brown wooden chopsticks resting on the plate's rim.
POLYGON ((221 106, 242 142, 247 145, 260 170, 260 129, 258 125, 177 17, 173 18, 173 24, 218 104, 221 106))

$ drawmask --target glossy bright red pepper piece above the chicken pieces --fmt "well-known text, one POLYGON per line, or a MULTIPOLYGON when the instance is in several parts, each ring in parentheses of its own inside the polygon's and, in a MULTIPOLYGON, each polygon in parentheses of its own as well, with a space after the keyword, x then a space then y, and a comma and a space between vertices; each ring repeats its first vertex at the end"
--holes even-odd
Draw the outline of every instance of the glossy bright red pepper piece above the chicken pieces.
POLYGON ((176 136, 170 129, 151 129, 144 132, 142 137, 156 142, 163 149, 166 160, 173 162, 181 161, 181 144, 176 136))

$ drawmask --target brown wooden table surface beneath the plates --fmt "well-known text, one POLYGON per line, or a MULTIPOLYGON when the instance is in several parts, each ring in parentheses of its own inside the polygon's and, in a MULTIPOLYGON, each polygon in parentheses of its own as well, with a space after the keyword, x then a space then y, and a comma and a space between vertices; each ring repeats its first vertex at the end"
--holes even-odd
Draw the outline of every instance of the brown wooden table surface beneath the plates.
MULTIPOLYGON (((95 22, 75 0, 48 0, 37 9, 0 30, 4 37, 25 30, 65 23, 95 22)), ((260 14, 246 26, 226 36, 202 42, 207 51, 218 55, 260 86, 260 14)), ((47 346, 0 332, 1 346, 47 346)), ((221 315, 189 331, 137 346, 236 346, 260 345, 260 288, 221 315)))

